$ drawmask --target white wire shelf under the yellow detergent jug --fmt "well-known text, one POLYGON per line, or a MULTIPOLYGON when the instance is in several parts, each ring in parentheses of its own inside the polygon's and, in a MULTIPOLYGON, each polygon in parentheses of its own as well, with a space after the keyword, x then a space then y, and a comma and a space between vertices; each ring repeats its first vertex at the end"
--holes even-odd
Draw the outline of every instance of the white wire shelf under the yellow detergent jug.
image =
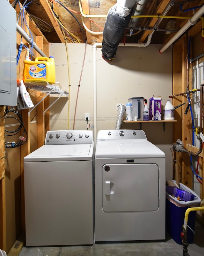
POLYGON ((43 93, 49 93, 51 95, 61 94, 64 97, 69 97, 69 92, 61 90, 59 83, 49 84, 47 82, 24 82, 25 86, 29 89, 33 89, 43 93))

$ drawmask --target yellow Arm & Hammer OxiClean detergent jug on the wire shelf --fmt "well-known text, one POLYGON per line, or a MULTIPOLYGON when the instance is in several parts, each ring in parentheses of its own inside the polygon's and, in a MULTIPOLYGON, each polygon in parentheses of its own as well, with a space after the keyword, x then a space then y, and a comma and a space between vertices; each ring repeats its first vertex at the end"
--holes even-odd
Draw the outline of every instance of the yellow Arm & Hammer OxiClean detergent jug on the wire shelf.
POLYGON ((55 83, 55 60, 52 56, 37 57, 35 61, 24 60, 24 82, 47 82, 55 83))

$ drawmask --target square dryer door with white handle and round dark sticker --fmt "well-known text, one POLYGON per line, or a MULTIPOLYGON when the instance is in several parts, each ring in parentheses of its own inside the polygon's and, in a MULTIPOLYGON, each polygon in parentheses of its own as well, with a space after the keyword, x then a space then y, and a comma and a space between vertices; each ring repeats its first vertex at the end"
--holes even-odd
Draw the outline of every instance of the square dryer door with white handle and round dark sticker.
POLYGON ((157 164, 106 164, 102 169, 102 207, 105 212, 157 211, 157 164))

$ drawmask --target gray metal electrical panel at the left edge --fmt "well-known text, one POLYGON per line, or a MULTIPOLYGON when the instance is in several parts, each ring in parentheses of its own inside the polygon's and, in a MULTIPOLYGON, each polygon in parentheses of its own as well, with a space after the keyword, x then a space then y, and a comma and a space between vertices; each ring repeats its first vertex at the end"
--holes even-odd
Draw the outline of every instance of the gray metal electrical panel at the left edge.
POLYGON ((16 11, 0 0, 0 105, 16 106, 16 11))

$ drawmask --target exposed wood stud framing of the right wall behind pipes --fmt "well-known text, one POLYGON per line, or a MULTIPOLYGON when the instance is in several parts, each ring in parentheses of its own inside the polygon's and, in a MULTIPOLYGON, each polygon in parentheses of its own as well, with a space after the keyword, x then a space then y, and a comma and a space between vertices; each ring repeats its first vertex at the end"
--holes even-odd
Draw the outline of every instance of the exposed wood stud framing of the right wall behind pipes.
MULTIPOLYGON (((196 26, 194 26, 192 29, 188 31, 188 36, 195 36, 196 33, 200 32, 200 24, 201 22, 198 22, 196 26)), ((193 63, 188 63, 187 61, 187 52, 188 52, 188 41, 187 36, 184 35, 180 40, 178 40, 173 45, 173 95, 186 92, 186 90, 192 89, 192 80, 193 80, 193 63), (188 66, 187 66, 188 65, 188 66), (186 72, 187 70, 187 72, 186 72)), ((190 56, 192 56, 192 49, 190 49, 190 56)), ((203 51, 204 52, 204 51, 203 51)), ((192 97, 192 94, 189 95, 189 97, 192 97)), ((180 95, 173 97, 173 105, 178 106, 182 103, 185 103, 185 105, 176 108, 175 109, 175 119, 177 120, 177 123, 174 123, 173 127, 173 142, 176 143, 177 139, 180 139, 184 143, 184 147, 187 148, 190 152, 197 153, 199 151, 199 148, 196 148, 192 146, 192 118, 190 114, 190 110, 188 111, 187 115, 184 114, 186 107, 187 107, 187 95, 180 95)), ((204 106, 204 105, 203 105, 204 106)), ((203 120, 202 127, 203 127, 203 120)), ((196 127, 195 127, 196 128, 196 127)), ((201 131, 203 132, 203 131, 201 131)), ((193 187, 193 178, 194 174, 191 169, 190 164, 190 156, 186 153, 181 152, 175 152, 174 153, 176 158, 176 164, 177 166, 177 179, 179 179, 179 182, 185 184, 189 188, 193 187)), ((199 169, 199 176, 203 178, 203 150, 199 154, 199 163, 200 163, 200 169, 199 169)), ((193 189, 193 188, 192 188, 193 189)), ((204 196, 204 185, 200 184, 200 198, 203 200, 204 196)), ((197 214, 199 220, 204 225, 204 213, 199 212, 197 214)))

